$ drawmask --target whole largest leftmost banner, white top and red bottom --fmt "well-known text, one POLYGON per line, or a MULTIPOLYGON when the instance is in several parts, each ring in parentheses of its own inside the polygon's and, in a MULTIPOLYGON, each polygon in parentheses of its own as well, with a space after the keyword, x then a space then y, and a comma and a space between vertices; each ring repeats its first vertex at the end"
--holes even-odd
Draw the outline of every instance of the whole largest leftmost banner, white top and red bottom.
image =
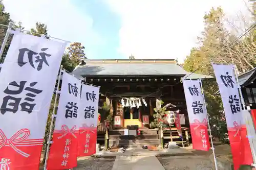
POLYGON ((0 74, 0 160, 8 161, 6 168, 39 167, 65 47, 66 43, 43 37, 13 35, 0 74))

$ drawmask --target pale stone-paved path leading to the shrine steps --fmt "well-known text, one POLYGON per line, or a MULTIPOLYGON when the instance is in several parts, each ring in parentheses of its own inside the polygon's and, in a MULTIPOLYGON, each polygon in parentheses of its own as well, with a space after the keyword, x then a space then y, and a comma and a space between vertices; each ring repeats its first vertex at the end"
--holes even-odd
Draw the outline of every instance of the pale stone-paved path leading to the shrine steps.
POLYGON ((112 170, 165 170, 156 156, 117 156, 112 170))

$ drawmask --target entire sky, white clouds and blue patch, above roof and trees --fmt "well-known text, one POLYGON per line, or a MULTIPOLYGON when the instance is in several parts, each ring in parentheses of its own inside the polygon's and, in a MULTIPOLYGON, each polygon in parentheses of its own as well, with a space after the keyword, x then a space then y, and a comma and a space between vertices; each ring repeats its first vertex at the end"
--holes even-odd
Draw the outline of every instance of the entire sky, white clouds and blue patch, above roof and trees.
MULTIPOLYGON (((221 6, 241 25, 246 0, 4 0, 11 18, 30 30, 81 42, 89 59, 178 59, 182 63, 203 31, 203 16, 221 6), (239 18, 240 17, 240 18, 239 18)), ((241 27, 241 31, 246 28, 241 27)))

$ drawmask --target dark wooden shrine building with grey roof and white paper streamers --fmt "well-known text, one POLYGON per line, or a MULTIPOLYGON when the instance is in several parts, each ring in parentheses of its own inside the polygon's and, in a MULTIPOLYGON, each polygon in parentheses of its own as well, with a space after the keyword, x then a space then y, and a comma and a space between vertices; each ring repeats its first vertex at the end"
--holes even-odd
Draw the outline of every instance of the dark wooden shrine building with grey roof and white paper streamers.
MULTIPOLYGON (((162 106, 169 103, 174 105, 167 110, 180 110, 181 127, 189 133, 181 78, 189 75, 190 72, 185 71, 176 60, 83 60, 72 74, 83 77, 86 83, 100 86, 99 108, 103 107, 104 102, 110 105, 113 122, 109 135, 115 136, 110 138, 114 143, 117 139, 120 140, 119 143, 121 142, 120 136, 125 136, 129 127, 137 127, 137 131, 140 132, 140 134, 133 133, 133 139, 142 137, 143 140, 149 141, 154 139, 150 136, 154 134, 157 141, 158 130, 150 127, 150 124, 154 121, 154 108, 159 100, 164 102, 162 106), (144 136, 141 136, 142 134, 144 136)), ((187 77, 187 79, 199 78, 205 80, 212 77, 200 74, 191 74, 187 77)), ((101 117, 99 128, 104 126, 102 124, 105 119, 106 117, 101 117)), ((172 133, 174 132, 175 128, 172 133)), ((172 133, 167 135, 166 139, 179 138, 172 133)), ((131 136, 130 132, 128 136, 131 136)))

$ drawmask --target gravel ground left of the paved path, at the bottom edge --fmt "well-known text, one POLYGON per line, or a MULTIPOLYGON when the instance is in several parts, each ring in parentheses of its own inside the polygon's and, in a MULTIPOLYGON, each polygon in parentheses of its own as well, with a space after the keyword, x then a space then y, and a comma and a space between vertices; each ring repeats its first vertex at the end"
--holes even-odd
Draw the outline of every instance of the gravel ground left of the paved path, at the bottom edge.
POLYGON ((84 157, 78 159, 74 170, 111 170, 115 159, 84 157))

